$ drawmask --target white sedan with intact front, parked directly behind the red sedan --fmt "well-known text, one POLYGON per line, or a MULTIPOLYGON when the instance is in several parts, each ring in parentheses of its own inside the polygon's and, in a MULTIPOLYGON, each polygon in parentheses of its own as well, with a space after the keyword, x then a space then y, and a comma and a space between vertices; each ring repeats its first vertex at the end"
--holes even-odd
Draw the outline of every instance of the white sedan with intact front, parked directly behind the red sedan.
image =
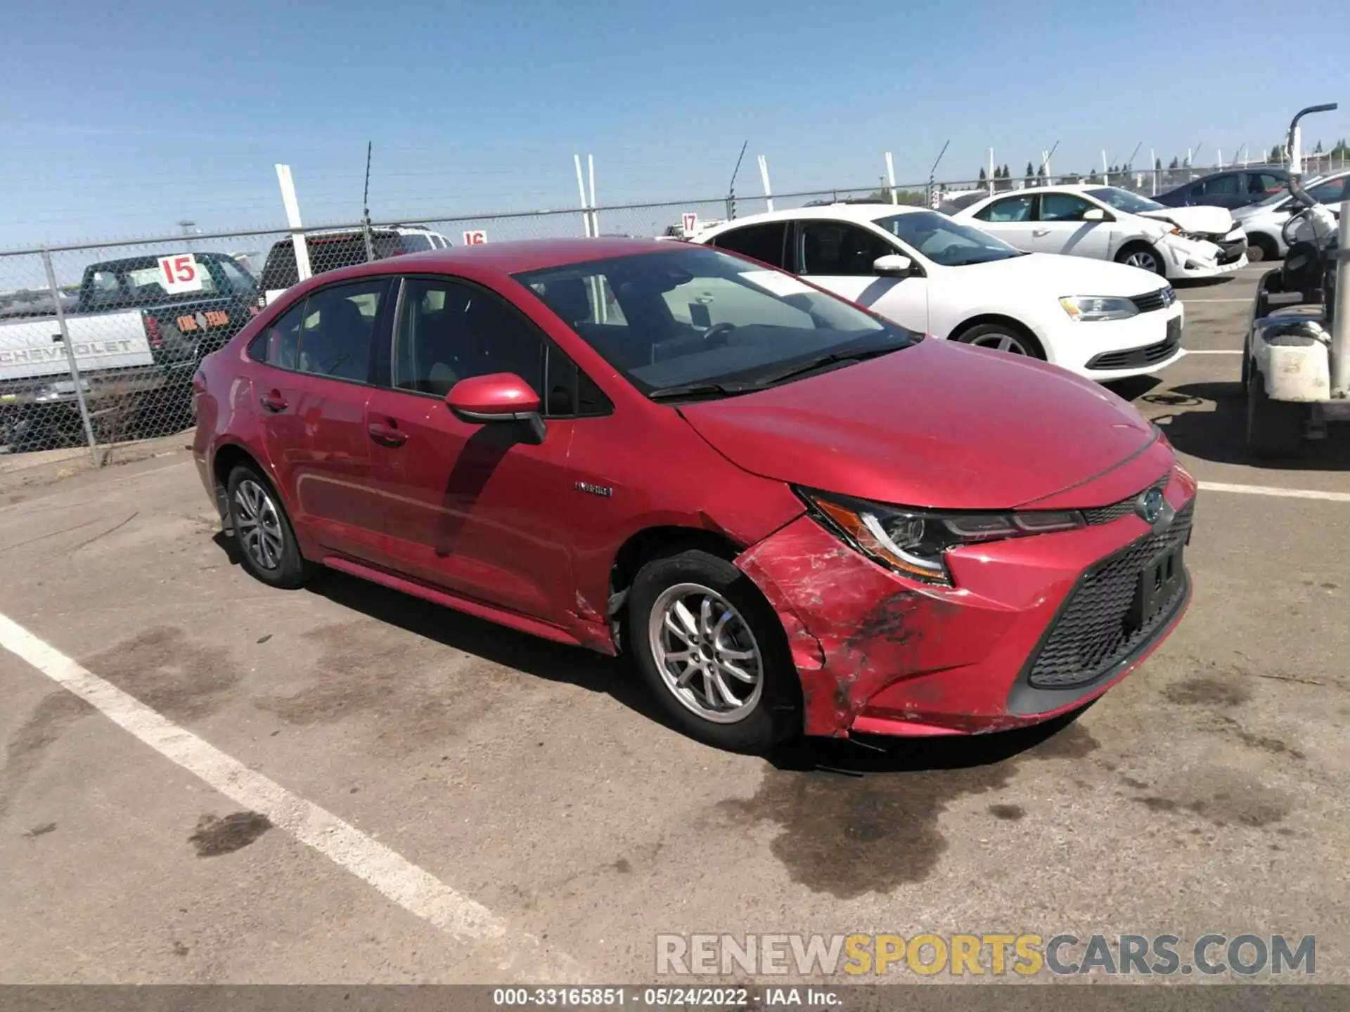
MULTIPOLYGON (((753 256, 934 337, 1045 359, 1098 381, 1181 349, 1172 286, 1138 267, 1025 254, 923 208, 833 204, 736 219, 695 243, 753 256)), ((699 316, 716 322, 716 296, 699 316)))

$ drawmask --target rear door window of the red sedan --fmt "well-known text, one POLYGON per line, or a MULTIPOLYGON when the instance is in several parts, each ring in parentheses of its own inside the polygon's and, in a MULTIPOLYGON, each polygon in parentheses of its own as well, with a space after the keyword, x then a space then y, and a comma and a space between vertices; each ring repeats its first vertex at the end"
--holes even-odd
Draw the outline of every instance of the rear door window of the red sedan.
POLYGON ((370 351, 387 278, 320 289, 305 300, 301 372, 370 382, 370 351))

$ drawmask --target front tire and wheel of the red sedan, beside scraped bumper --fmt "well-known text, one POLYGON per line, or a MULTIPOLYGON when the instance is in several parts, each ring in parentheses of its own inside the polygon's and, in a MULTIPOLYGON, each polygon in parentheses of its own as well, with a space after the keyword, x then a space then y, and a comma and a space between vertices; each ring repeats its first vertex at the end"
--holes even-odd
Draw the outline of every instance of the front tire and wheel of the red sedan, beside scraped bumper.
POLYGON ((628 595, 633 658, 666 716, 730 752, 764 753, 801 731, 787 637, 751 579, 699 548, 652 559, 628 595))

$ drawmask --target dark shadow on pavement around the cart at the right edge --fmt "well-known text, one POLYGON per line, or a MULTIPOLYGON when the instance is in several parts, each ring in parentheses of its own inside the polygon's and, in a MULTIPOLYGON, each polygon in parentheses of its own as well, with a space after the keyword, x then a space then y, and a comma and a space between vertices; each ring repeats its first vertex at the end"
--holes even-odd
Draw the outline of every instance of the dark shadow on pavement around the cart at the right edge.
POLYGON ((1249 453, 1246 401, 1241 383, 1188 383, 1143 394, 1141 399, 1156 407, 1174 409, 1154 414, 1153 421, 1181 453, 1219 464, 1280 471, 1350 470, 1350 440, 1345 439, 1343 424, 1328 426, 1324 440, 1305 440, 1301 449, 1291 456, 1261 459, 1249 453), (1214 409, 1204 410, 1208 405, 1214 409))

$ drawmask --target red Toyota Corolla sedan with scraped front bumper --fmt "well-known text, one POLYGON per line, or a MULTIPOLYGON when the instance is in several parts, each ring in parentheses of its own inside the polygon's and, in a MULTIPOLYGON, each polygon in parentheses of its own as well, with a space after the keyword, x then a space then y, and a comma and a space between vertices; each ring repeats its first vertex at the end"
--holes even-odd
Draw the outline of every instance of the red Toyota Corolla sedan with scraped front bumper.
POLYGON ((1125 401, 707 247, 323 274, 204 360, 196 407, 259 580, 327 565, 626 652, 729 749, 1044 721, 1191 594, 1195 482, 1125 401))

